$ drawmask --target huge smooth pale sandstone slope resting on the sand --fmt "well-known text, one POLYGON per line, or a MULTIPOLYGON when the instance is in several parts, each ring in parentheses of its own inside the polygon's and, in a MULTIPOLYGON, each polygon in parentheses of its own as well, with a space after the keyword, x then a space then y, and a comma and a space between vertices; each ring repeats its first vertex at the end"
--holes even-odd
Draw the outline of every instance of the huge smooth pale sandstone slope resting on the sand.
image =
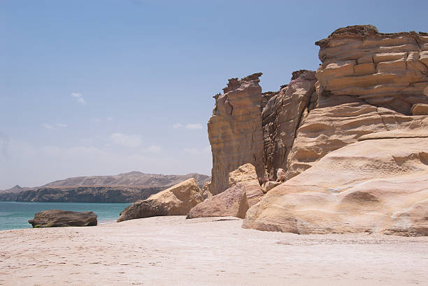
POLYGON ((243 227, 428 235, 428 132, 413 138, 373 135, 328 153, 269 191, 248 210, 243 227))

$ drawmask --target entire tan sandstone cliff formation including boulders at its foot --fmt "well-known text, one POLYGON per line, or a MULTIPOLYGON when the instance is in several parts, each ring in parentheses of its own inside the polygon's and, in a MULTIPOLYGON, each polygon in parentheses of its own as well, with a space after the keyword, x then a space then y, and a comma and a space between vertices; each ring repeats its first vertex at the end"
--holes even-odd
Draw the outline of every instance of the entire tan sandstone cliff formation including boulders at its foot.
POLYGON ((211 182, 138 200, 118 222, 235 216, 296 234, 428 235, 428 34, 352 26, 322 64, 262 93, 255 73, 217 94, 211 182))

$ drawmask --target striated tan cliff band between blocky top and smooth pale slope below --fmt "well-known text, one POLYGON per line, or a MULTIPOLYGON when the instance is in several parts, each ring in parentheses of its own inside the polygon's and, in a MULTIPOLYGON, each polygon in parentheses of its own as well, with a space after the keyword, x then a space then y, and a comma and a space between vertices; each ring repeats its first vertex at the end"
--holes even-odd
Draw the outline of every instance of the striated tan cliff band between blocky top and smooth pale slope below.
POLYGON ((406 116, 362 102, 316 108, 297 131, 287 158, 286 179, 304 172, 327 153, 357 142, 363 135, 422 126, 428 128, 426 116, 406 116))

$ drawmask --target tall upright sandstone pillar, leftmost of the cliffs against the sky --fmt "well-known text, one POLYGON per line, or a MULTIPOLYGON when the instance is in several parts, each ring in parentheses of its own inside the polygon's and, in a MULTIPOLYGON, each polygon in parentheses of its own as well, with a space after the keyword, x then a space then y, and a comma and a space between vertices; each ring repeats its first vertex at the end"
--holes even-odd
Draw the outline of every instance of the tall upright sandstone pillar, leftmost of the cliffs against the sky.
POLYGON ((263 176, 262 88, 255 73, 241 80, 232 78, 223 94, 217 94, 208 137, 213 152, 211 192, 228 188, 229 172, 251 163, 263 176))

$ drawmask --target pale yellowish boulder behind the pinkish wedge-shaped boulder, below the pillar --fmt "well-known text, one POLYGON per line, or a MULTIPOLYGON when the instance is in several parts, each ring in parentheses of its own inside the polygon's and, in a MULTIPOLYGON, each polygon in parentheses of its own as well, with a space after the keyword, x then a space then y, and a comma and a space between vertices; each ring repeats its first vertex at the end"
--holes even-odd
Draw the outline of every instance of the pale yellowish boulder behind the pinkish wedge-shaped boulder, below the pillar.
POLYGON ((263 192, 255 167, 252 164, 244 164, 229 173, 228 187, 235 186, 237 183, 242 183, 243 188, 245 188, 249 206, 253 206, 259 202, 263 192))

